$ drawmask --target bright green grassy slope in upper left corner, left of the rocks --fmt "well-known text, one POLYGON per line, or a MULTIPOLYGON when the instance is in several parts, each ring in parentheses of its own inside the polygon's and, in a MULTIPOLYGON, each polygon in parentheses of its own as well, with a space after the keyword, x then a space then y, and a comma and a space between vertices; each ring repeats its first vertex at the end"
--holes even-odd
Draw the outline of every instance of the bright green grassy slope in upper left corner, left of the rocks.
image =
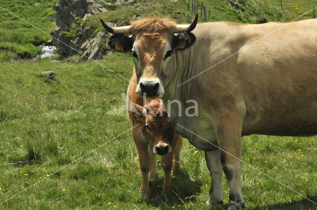
MULTIPOLYGON (((0 6, 23 20, 49 33, 55 24, 53 14, 57 0, 2 0, 0 6), (39 3, 35 6, 35 3, 39 3)), ((41 48, 35 46, 52 40, 18 17, 0 8, 0 50, 9 50, 9 55, 0 53, 0 60, 35 57, 41 48)))

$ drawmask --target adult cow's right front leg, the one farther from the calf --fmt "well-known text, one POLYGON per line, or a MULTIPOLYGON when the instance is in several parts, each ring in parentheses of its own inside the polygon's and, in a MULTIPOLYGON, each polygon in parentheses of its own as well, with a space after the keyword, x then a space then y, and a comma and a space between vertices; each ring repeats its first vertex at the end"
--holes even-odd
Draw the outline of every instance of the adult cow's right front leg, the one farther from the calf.
POLYGON ((241 131, 244 112, 242 110, 221 110, 215 121, 217 142, 220 148, 222 169, 229 182, 228 210, 245 208, 241 189, 241 131), (241 114, 239 116, 239 114, 241 114))

